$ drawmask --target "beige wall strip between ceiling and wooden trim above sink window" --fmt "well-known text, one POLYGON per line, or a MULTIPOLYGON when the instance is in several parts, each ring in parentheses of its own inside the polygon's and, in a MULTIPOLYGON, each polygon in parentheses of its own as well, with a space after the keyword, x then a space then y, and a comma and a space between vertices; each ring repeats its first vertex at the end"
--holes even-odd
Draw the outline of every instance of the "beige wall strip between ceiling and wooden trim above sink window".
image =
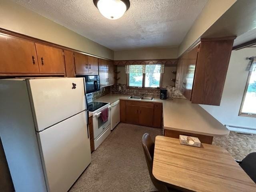
POLYGON ((114 60, 177 58, 178 48, 144 48, 114 52, 114 60))

